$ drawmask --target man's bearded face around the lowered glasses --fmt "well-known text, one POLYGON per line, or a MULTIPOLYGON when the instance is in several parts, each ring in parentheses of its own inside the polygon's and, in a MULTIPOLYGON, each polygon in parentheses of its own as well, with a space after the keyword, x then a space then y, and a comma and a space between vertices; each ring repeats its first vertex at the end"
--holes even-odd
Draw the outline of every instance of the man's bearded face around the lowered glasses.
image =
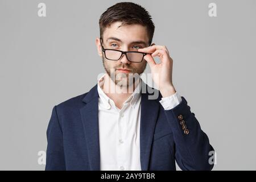
MULTIPOLYGON (((148 47, 148 35, 146 27, 140 24, 131 24, 127 26, 118 26, 121 22, 112 23, 110 27, 107 27, 103 34, 102 45, 105 49, 117 49, 120 51, 137 51, 139 48, 148 47)), ((115 84, 128 86, 133 84, 129 81, 129 76, 144 72, 146 68, 146 60, 143 59, 141 63, 133 63, 127 60, 125 55, 118 61, 112 61, 106 59, 101 49, 100 39, 96 39, 96 45, 98 48, 98 54, 102 57, 104 68, 108 75, 112 75, 112 80, 115 84), (126 69, 127 71, 119 70, 126 69), (110 73, 112 72, 112 73, 110 73), (114 74, 113 74, 114 72, 114 74), (113 78, 114 75, 114 78, 113 78)))

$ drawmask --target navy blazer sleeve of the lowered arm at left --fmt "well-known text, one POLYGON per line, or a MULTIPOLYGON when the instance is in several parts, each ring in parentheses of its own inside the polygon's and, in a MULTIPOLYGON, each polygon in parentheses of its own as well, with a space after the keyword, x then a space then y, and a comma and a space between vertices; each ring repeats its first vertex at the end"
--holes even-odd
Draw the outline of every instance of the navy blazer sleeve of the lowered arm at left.
POLYGON ((65 170, 63 132, 57 116, 57 106, 52 109, 47 127, 46 171, 65 170))

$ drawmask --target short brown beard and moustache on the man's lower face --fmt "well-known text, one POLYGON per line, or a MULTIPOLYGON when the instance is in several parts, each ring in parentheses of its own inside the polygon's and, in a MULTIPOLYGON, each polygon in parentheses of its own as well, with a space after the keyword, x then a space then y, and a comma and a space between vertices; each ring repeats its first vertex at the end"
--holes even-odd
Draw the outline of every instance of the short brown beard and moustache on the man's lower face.
POLYGON ((108 73, 109 77, 112 79, 112 81, 115 83, 115 85, 120 86, 121 88, 129 88, 131 85, 135 83, 135 81, 138 80, 141 73, 144 72, 147 66, 147 61, 143 60, 141 63, 141 67, 134 68, 130 64, 118 64, 115 65, 113 68, 109 67, 108 61, 111 60, 105 60, 104 57, 102 57, 102 63, 104 65, 104 69, 106 73, 108 73), (129 73, 118 73, 117 69, 129 69, 129 73))

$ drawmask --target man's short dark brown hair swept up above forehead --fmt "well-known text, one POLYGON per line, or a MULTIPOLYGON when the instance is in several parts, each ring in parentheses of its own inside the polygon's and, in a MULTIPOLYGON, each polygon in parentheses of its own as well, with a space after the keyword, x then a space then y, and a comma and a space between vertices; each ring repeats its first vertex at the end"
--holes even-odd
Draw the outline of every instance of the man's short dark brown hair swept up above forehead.
POLYGON ((152 22, 151 15, 144 7, 132 2, 119 2, 109 7, 100 17, 100 36, 103 39, 103 32, 106 27, 114 22, 121 22, 121 26, 128 24, 141 24, 147 27, 149 44, 152 43, 155 25, 152 22))

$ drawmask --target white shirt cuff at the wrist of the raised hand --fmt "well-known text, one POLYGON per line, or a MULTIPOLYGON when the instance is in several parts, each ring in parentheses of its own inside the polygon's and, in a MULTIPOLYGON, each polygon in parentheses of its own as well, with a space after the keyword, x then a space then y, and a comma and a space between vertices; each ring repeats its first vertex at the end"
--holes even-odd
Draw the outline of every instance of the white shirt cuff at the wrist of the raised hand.
POLYGON ((164 110, 170 110, 180 104, 181 97, 177 92, 175 92, 175 94, 172 94, 169 97, 162 97, 162 100, 159 102, 163 106, 164 110))

